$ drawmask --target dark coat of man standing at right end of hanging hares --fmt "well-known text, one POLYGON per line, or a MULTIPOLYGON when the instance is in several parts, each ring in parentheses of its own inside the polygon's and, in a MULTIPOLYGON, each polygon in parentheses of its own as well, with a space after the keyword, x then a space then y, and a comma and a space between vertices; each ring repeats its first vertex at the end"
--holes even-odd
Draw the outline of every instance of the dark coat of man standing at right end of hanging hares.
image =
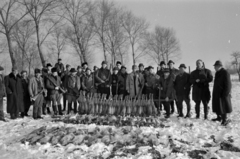
POLYGON ((160 79, 161 99, 169 98, 175 99, 174 79, 169 75, 168 78, 160 79))

